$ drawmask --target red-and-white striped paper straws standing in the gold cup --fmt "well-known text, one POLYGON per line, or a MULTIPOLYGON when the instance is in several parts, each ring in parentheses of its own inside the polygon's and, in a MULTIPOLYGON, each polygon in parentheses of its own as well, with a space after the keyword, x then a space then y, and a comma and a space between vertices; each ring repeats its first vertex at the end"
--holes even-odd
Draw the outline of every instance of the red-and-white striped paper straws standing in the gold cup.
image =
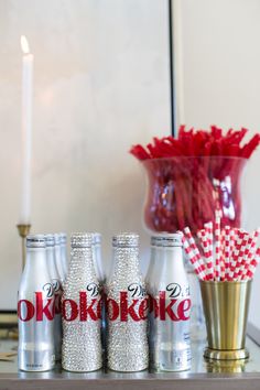
POLYGON ((201 280, 241 281, 253 277, 259 263, 260 248, 257 240, 260 229, 249 234, 242 229, 225 226, 220 230, 220 216, 197 231, 202 252, 195 243, 188 227, 184 229, 184 250, 201 280))

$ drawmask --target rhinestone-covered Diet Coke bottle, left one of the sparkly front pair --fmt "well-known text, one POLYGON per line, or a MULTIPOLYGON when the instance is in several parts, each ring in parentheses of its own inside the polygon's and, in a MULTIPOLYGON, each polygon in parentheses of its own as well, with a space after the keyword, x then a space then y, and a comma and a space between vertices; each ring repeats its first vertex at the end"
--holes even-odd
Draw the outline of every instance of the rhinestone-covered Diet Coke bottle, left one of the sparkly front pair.
POLYGON ((88 372, 102 366, 101 299, 93 263, 93 235, 72 236, 72 259, 62 296, 62 366, 88 372))

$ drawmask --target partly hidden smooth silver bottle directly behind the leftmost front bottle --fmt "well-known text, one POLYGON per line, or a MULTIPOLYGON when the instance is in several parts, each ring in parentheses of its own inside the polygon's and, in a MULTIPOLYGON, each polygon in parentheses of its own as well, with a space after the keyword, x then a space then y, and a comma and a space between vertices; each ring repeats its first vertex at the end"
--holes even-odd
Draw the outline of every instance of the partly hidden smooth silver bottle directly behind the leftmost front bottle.
POLYGON ((45 241, 46 241, 47 268, 48 268, 48 272, 53 285, 54 301, 55 301, 55 315, 54 315, 55 358, 56 360, 61 360, 62 358, 62 311, 61 311, 62 282, 59 280, 59 275, 55 262, 54 236, 45 235, 45 241))

